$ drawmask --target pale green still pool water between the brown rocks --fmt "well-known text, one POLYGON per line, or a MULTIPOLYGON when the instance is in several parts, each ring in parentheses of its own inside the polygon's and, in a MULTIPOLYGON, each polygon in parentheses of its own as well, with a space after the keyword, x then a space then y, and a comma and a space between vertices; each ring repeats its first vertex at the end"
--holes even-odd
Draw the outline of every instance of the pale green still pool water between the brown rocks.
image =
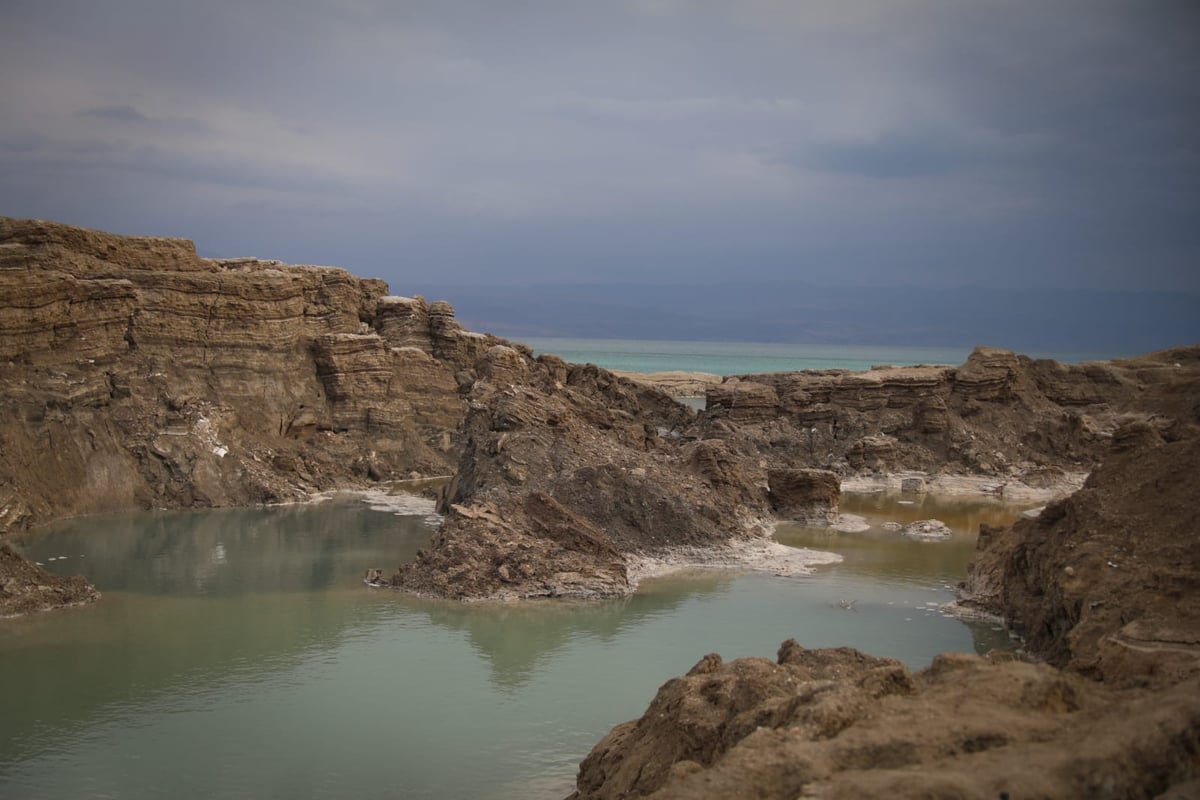
MULTIPOLYGON (((919 511, 953 527, 1013 515, 980 507, 919 511)), ((0 796, 562 798, 592 745, 706 652, 772 656, 796 637, 920 667, 1007 640, 929 604, 950 600, 970 535, 790 529, 846 563, 810 578, 697 572, 611 602, 458 604, 361 584, 428 533, 335 504, 90 518, 17 542, 104 599, 0 624, 0 796)))

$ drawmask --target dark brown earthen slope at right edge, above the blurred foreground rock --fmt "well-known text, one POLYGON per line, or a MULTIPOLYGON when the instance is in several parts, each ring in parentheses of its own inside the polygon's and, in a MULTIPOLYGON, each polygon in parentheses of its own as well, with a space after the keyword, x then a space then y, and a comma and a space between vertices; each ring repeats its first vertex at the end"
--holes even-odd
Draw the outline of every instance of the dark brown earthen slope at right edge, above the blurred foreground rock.
POLYGON ((1122 449, 1036 518, 983 531, 966 600, 1106 682, 1200 673, 1198 475, 1198 438, 1122 449))

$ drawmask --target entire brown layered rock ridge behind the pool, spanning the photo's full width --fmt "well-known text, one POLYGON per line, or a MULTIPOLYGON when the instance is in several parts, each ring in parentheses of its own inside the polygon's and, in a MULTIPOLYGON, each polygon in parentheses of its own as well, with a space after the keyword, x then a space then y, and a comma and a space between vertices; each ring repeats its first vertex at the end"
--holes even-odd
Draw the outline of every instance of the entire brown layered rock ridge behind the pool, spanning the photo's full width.
POLYGON ((1054 487, 1123 425, 1196 425, 1195 347, 743 375, 697 414, 380 281, 44 221, 0 218, 0 534, 452 476, 431 546, 383 578, 450 597, 625 594, 655 559, 762 554, 772 518, 829 519, 839 479, 1054 487))

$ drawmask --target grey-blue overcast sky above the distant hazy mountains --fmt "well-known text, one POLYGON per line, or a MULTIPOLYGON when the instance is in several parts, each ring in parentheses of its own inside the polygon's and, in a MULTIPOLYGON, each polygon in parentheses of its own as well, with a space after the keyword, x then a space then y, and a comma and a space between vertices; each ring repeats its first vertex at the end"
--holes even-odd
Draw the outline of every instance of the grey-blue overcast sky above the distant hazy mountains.
POLYGON ((0 213, 406 281, 1200 290, 1195 0, 0 0, 0 213))

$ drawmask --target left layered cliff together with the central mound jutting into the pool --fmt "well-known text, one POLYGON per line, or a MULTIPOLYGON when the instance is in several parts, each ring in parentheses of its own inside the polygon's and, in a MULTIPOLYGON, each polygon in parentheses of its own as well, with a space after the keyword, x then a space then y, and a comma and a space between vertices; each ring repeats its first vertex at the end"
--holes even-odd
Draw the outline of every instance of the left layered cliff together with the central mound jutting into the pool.
POLYGON ((596 596, 769 513, 766 468, 666 395, 342 270, 4 219, 0 290, 0 530, 455 473, 395 585, 596 596))

